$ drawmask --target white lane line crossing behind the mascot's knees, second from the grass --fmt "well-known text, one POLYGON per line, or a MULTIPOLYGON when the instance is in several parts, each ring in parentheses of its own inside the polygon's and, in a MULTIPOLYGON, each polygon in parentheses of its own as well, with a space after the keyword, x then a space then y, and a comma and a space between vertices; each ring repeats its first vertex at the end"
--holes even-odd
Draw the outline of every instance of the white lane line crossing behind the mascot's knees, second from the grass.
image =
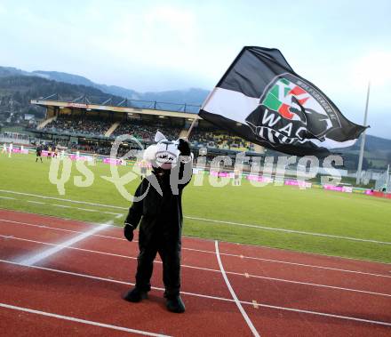
MULTIPOLYGON (((55 245, 47 242, 42 242, 42 241, 36 241, 36 240, 30 240, 27 238, 22 238, 22 237, 13 237, 13 236, 4 236, 0 235, 0 237, 10 238, 13 240, 19 240, 19 241, 25 241, 25 242, 31 242, 39 245, 52 245, 52 246, 61 246, 61 245, 55 245)), ((79 247, 73 247, 73 246, 63 246, 65 249, 70 249, 70 250, 75 250, 79 252, 86 252, 86 253, 97 253, 101 255, 107 255, 107 256, 114 256, 118 258, 123 258, 123 259, 130 259, 130 260, 137 260, 137 257, 133 256, 128 256, 128 255, 122 255, 122 254, 116 254, 116 253, 107 253, 107 252, 101 252, 101 251, 94 251, 91 249, 85 249, 85 248, 79 248, 79 247)), ((220 253, 220 255, 222 255, 220 253)), ((162 264, 162 261, 156 261, 156 263, 162 264)), ((190 266, 187 264, 181 264, 180 265, 183 268, 189 268, 189 269, 198 269, 198 270, 204 270, 204 271, 212 271, 212 272, 220 272, 219 269, 210 269, 210 268, 202 268, 202 267, 195 267, 195 266, 190 266)), ((290 283, 290 284, 295 284, 295 285, 309 285, 309 286, 315 286, 315 287, 321 287, 321 288, 328 288, 328 289, 333 289, 333 290, 339 290, 339 291, 346 291, 346 292, 353 292, 353 293, 367 293, 370 295, 378 295, 378 296, 386 296, 386 297, 391 297, 391 294, 389 293, 375 293, 375 292, 370 292, 366 290, 359 290, 359 289, 351 289, 351 288, 345 288, 345 287, 339 287, 339 286, 334 286, 334 285, 318 285, 314 283, 308 283, 308 282, 299 282, 299 281, 293 281, 293 280, 288 280, 284 278, 275 278, 275 277, 262 277, 258 275, 251 275, 248 273, 236 273, 234 271, 226 271, 227 274, 230 275, 238 275, 241 277, 254 277, 254 278, 261 278, 261 279, 266 279, 269 281, 276 281, 276 282, 284 282, 284 283, 290 283)))

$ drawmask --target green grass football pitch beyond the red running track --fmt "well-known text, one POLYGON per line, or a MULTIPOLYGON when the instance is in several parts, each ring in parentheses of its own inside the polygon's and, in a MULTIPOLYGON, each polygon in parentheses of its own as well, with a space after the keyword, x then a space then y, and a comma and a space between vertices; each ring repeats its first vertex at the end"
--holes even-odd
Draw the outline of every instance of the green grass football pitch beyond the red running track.
MULTIPOLYGON (((108 164, 87 166, 94 175, 90 187, 76 187, 74 177, 82 175, 72 165, 64 196, 49 181, 51 160, 36 163, 33 155, 0 156, 0 189, 35 194, 42 197, 0 192, 0 207, 29 213, 41 213, 82 221, 124 222, 125 209, 77 204, 52 198, 129 207, 130 203, 117 191, 113 183, 102 176, 111 176, 108 164), (12 197, 12 199, 10 198, 12 197), (122 214, 122 215, 119 215, 122 214)), ((119 166, 120 175, 132 169, 119 166)), ((362 260, 391 262, 391 201, 322 189, 267 185, 253 187, 248 181, 242 186, 231 184, 211 187, 209 176, 203 186, 190 182, 183 195, 184 228, 186 236, 219 239, 251 245, 265 245, 308 253, 344 256, 362 260), (200 218, 202 220, 189 219, 200 218), (222 222, 213 222, 222 221, 222 222), (231 223, 227 223, 231 222, 231 223), (260 229, 235 223, 267 227, 260 229), (319 235, 306 235, 274 229, 289 229, 319 235), (352 237, 323 237, 331 235, 352 237)), ((125 187, 129 192, 137 188, 140 179, 125 187)))

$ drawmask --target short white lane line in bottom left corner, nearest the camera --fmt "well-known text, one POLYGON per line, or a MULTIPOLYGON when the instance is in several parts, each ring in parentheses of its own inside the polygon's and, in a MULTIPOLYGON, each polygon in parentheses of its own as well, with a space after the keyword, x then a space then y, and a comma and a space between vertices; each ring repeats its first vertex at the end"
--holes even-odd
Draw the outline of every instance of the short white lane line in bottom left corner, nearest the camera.
POLYGON ((36 314, 36 315, 41 315, 41 316, 46 316, 46 317, 53 317, 53 318, 58 318, 58 319, 64 319, 66 321, 82 323, 84 325, 95 325, 95 326, 104 327, 104 328, 108 328, 108 329, 112 329, 112 330, 124 331, 125 333, 138 333, 138 334, 142 334, 144 336, 164 336, 164 337, 168 337, 165 334, 149 333, 147 331, 131 329, 131 328, 127 328, 127 327, 124 327, 124 326, 108 325, 108 324, 105 324, 105 323, 89 321, 89 320, 86 320, 86 319, 53 314, 52 312, 46 312, 46 311, 41 311, 41 310, 17 307, 17 306, 14 306, 14 305, 11 305, 11 304, 6 304, 6 303, 0 303, 0 307, 1 308, 5 308, 5 309, 12 309, 12 310, 17 310, 17 311, 28 312, 30 314, 36 314))

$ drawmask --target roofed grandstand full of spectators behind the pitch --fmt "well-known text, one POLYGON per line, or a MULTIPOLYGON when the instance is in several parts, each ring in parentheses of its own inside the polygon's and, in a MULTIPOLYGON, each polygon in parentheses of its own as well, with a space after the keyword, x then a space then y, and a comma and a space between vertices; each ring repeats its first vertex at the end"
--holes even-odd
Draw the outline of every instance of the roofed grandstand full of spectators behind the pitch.
POLYGON ((195 125, 189 140, 195 155, 200 148, 207 148, 211 156, 235 156, 238 151, 248 156, 263 154, 258 145, 204 121, 197 115, 200 106, 196 105, 144 100, 98 102, 86 96, 65 101, 57 94, 31 100, 31 104, 46 109, 44 121, 29 130, 37 139, 100 155, 108 155, 111 144, 121 134, 134 136, 144 146, 153 141, 157 130, 168 139, 186 137, 193 121, 195 125))

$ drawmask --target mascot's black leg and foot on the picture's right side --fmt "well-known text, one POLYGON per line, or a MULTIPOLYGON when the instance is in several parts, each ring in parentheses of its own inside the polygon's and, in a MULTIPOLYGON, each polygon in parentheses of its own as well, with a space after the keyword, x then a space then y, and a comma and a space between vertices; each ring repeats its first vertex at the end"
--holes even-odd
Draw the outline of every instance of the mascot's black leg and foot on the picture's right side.
POLYGON ((172 312, 185 311, 185 304, 180 298, 180 247, 175 249, 167 246, 159 249, 159 255, 163 261, 164 297, 166 307, 172 312))

